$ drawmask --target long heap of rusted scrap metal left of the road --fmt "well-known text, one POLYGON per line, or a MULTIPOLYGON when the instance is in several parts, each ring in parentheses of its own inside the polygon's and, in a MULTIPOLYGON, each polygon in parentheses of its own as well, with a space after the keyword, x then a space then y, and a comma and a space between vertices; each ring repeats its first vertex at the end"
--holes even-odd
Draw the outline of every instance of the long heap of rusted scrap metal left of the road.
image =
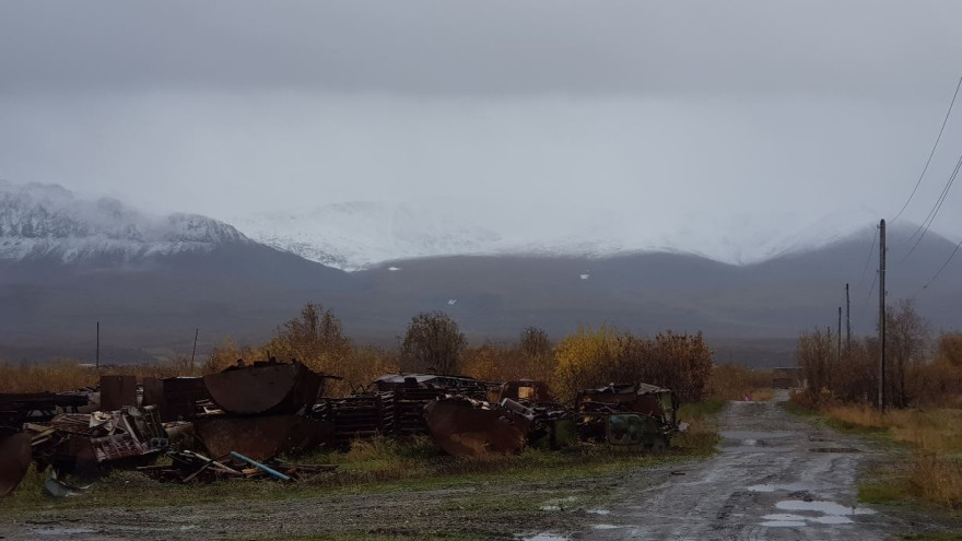
POLYGON ((98 392, 0 395, 0 496, 31 461, 86 475, 134 467, 184 483, 292 481, 335 467, 279 456, 365 437, 426 435, 449 455, 478 457, 579 440, 662 448, 684 428, 673 392, 645 384, 586 390, 566 405, 542 381, 423 374, 386 375, 364 392, 325 398, 329 377, 271 358, 202 378, 145 378, 142 387, 132 376, 104 376, 98 392), (159 457, 166 460, 152 466, 159 457))

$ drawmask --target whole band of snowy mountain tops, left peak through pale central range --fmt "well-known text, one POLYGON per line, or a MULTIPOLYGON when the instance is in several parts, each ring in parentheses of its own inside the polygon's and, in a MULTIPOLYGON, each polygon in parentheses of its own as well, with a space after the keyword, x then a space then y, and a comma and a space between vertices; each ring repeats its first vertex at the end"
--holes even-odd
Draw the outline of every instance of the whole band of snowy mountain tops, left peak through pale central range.
POLYGON ((57 185, 0 180, 0 260, 131 261, 260 243, 345 271, 456 255, 605 258, 674 252, 750 264, 849 237, 870 237, 877 215, 859 208, 817 220, 693 214, 674 224, 650 224, 644 216, 572 210, 561 224, 532 219, 519 226, 501 217, 478 223, 433 207, 349 202, 231 219, 235 228, 197 214, 155 216, 115 199, 83 199, 57 185))

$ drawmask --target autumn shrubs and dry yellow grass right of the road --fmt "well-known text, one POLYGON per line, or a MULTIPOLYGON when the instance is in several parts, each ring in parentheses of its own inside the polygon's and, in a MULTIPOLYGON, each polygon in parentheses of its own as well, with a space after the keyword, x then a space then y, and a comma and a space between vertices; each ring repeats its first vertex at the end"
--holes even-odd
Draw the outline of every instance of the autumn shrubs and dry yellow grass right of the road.
POLYGON ((962 509, 962 332, 932 338, 911 302, 885 313, 887 409, 880 412, 879 340, 844 341, 814 329, 798 339, 806 386, 793 393, 796 411, 814 411, 843 431, 894 442, 907 460, 873 472, 859 495, 867 502, 912 497, 962 509))

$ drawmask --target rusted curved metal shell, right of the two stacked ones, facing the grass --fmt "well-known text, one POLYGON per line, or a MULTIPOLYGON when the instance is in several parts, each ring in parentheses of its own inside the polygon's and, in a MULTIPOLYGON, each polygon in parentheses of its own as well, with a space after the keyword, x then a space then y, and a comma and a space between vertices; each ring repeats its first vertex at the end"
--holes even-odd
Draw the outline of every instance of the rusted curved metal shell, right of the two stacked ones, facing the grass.
POLYGON ((458 398, 429 402, 424 420, 437 445, 456 457, 519 452, 531 428, 511 410, 458 398))

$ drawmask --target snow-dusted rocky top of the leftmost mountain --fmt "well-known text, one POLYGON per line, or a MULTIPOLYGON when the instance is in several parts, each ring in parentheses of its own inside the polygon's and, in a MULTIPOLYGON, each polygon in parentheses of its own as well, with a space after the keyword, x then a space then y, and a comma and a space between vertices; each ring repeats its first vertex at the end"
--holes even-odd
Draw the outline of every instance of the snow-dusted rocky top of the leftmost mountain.
POLYGON ((81 199, 57 185, 0 180, 0 260, 130 261, 237 243, 250 239, 206 216, 153 216, 115 199, 81 199))

